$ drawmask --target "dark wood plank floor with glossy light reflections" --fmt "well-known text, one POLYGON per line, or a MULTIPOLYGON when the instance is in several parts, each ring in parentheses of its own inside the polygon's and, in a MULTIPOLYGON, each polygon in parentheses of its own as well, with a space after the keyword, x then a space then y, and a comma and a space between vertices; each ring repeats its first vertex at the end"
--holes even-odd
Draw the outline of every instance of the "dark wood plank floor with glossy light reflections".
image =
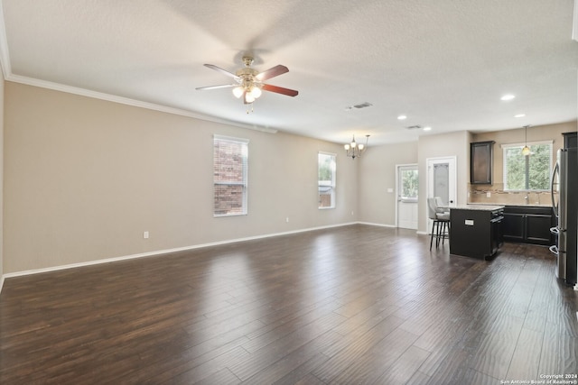
POLYGON ((5 280, 2 384, 499 384, 578 373, 547 248, 352 225, 5 280))

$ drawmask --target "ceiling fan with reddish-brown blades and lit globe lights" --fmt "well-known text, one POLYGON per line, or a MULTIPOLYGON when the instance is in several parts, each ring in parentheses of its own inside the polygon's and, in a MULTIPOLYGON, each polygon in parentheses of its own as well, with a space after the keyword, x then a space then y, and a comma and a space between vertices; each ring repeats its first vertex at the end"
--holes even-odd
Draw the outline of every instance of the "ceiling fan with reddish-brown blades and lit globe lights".
POLYGON ((285 72, 289 72, 289 69, 285 66, 278 65, 271 69, 267 69, 266 71, 259 72, 256 69, 251 68, 251 65, 253 64, 253 58, 251 56, 244 56, 243 63, 245 64, 245 67, 238 69, 236 73, 228 72, 228 70, 221 69, 212 64, 205 64, 205 67, 214 69, 229 78, 233 78, 235 83, 224 84, 221 86, 197 87, 196 89, 207 90, 234 87, 233 95, 238 98, 243 96, 243 103, 246 105, 252 104, 257 97, 261 96, 262 90, 286 96, 297 96, 299 94, 299 91, 295 91, 294 89, 277 87, 264 83, 267 79, 275 78, 276 76, 283 75, 285 72))

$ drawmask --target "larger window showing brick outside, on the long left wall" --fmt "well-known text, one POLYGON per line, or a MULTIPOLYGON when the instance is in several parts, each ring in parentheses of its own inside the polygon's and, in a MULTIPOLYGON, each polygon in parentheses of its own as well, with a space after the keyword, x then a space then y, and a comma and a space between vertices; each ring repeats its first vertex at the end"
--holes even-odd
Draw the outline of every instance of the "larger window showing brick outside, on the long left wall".
POLYGON ((247 157, 247 140, 214 136, 213 215, 247 215, 247 157))

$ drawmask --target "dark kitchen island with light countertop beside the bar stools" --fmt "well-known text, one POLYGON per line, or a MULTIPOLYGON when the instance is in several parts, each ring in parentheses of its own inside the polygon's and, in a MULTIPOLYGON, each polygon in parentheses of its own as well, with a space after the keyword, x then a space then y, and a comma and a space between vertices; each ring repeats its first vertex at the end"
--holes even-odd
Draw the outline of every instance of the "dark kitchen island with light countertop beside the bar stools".
POLYGON ((459 205, 450 208, 450 253, 489 259, 502 240, 504 206, 459 205))

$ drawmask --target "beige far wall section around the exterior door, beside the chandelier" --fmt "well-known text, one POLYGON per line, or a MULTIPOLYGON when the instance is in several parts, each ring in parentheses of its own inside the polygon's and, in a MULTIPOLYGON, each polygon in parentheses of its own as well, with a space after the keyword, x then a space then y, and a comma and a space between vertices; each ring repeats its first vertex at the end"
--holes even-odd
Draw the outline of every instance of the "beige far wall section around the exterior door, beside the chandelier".
MULTIPOLYGON (((355 160, 358 161, 358 160, 355 160)), ((417 163, 417 142, 370 147, 359 159, 359 221, 396 225, 396 165, 417 163)))

